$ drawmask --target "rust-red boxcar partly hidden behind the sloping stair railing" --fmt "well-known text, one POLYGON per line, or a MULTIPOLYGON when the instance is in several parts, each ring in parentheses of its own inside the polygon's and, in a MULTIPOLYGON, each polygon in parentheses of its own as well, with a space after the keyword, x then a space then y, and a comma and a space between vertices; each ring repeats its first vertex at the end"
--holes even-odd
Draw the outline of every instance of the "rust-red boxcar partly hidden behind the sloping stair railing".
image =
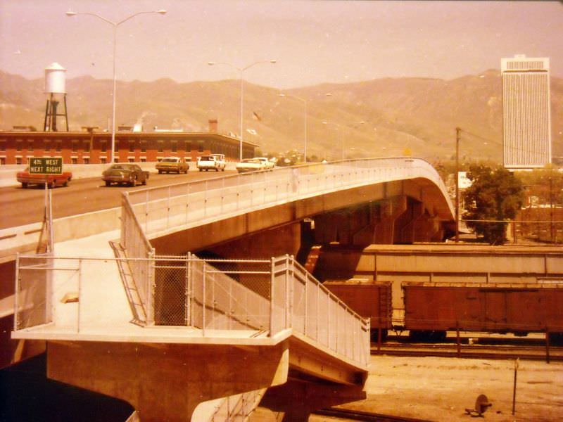
POLYGON ((325 281, 323 286, 334 293, 354 312, 370 319, 372 339, 377 340, 379 328, 381 338, 386 338, 391 329, 393 305, 391 303, 391 281, 325 281))

